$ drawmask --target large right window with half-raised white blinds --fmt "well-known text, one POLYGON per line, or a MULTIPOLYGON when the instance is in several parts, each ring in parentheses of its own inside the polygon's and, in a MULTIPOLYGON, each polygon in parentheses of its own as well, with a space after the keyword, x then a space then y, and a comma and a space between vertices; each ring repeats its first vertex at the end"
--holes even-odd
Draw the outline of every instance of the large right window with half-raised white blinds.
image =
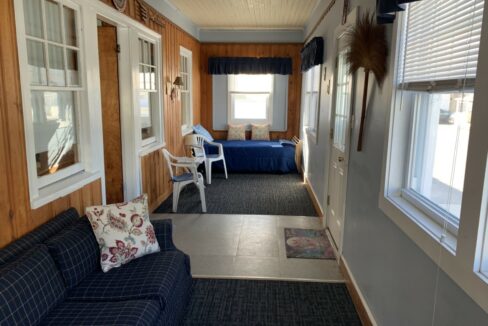
POLYGON ((386 196, 455 251, 482 0, 412 3, 400 24, 386 196), (405 207, 405 206, 403 206, 405 207))

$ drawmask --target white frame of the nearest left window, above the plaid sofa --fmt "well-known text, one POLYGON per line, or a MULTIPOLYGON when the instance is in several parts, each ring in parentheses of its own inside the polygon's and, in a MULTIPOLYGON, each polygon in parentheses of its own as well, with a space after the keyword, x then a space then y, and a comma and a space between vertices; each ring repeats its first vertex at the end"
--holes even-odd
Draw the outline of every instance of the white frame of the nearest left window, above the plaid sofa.
MULTIPOLYGON (((87 66, 98 65, 97 54, 86 52, 89 47, 86 30, 87 17, 83 4, 79 1, 57 0, 63 6, 75 10, 77 17, 77 36, 79 42, 79 78, 78 87, 52 87, 52 86, 31 86, 28 71, 26 31, 24 26, 23 1, 14 1, 17 45, 19 49, 20 84, 23 101, 23 117, 26 143, 27 170, 29 177, 29 195, 31 208, 43 206, 59 197, 65 196, 83 186, 101 178, 100 146, 96 139, 102 138, 99 124, 101 115, 98 112, 97 100, 99 100, 99 85, 88 83, 92 80, 94 72, 86 69, 87 66), (76 107, 76 132, 79 151, 79 163, 64 168, 52 175, 37 176, 35 157, 34 128, 32 121, 31 90, 41 91, 75 91, 76 107), (88 96, 90 94, 90 96, 88 96), (90 132, 90 130, 99 132, 90 132)), ((44 17, 45 19, 45 17, 44 17)), ((63 28, 64 22, 61 22, 63 28)), ((29 37, 30 38, 30 37, 29 37)), ((47 58, 46 58, 47 59, 47 58)), ((101 150, 103 153, 103 148, 101 150)))

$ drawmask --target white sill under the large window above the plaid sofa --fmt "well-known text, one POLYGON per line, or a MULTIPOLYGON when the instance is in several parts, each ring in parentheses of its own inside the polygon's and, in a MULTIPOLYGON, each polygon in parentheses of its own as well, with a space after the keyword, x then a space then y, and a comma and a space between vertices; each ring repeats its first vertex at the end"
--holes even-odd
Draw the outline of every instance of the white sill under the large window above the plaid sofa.
MULTIPOLYGON (((31 208, 36 209, 49 204, 56 199, 67 196, 70 193, 83 188, 89 183, 100 179, 100 173, 80 172, 66 179, 57 181, 39 189, 38 196, 31 199, 31 208)), ((82 212, 80 212, 81 214, 82 212)))

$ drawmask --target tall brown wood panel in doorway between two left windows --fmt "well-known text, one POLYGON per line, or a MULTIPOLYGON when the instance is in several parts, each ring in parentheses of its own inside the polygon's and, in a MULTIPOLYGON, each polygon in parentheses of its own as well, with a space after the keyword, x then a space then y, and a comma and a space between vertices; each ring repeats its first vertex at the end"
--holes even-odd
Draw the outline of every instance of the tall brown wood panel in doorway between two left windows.
POLYGON ((107 204, 124 201, 117 27, 97 23, 107 204))

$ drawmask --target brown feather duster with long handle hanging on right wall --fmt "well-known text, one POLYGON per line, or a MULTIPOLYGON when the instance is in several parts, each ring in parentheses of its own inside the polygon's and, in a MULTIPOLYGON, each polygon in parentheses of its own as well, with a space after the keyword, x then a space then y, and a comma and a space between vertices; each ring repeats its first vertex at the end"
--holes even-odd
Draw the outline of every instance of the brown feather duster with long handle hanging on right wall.
POLYGON ((374 14, 365 12, 347 35, 349 51, 346 54, 346 60, 349 64, 349 72, 353 74, 359 68, 364 68, 365 74, 358 151, 362 150, 369 73, 372 72, 374 74, 376 81, 381 87, 387 72, 388 44, 386 42, 386 31, 384 26, 375 23, 374 17, 374 14))

